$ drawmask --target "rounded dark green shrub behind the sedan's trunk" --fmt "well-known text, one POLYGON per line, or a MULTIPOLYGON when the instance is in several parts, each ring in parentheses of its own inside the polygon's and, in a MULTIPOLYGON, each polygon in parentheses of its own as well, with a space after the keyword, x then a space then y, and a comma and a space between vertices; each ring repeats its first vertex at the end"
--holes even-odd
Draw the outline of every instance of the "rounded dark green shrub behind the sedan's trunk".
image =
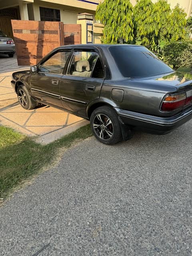
POLYGON ((173 66, 173 68, 178 68, 182 63, 182 53, 188 48, 190 44, 188 42, 169 42, 163 48, 164 61, 173 66))

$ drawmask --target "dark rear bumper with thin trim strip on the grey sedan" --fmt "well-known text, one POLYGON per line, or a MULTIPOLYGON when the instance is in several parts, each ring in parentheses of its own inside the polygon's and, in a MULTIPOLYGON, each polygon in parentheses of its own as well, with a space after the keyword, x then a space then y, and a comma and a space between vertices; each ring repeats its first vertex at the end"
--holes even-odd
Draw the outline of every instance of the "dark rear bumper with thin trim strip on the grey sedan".
POLYGON ((125 125, 135 126, 155 134, 166 134, 192 118, 192 108, 166 118, 120 109, 116 109, 116 111, 125 125))

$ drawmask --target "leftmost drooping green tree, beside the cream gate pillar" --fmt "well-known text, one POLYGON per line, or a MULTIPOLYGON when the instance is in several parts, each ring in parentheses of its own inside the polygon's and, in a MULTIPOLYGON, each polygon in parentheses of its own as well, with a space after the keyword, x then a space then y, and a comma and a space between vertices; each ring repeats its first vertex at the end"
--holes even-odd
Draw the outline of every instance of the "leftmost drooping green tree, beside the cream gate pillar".
POLYGON ((133 41, 133 6, 129 0, 104 0, 97 7, 96 19, 104 24, 105 44, 133 41))

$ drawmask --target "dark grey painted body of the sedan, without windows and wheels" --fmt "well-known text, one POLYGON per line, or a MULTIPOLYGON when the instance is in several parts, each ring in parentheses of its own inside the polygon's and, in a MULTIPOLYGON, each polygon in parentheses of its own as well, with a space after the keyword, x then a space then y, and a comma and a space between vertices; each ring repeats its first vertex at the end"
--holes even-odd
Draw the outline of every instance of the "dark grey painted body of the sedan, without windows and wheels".
MULTIPOLYGON (((180 125, 178 121, 174 123, 173 119, 178 120, 178 113, 180 112, 180 116, 182 116, 182 111, 178 109, 172 112, 163 112, 160 110, 160 105, 166 94, 182 91, 192 94, 192 80, 186 79, 185 73, 178 73, 174 70, 171 73, 157 76, 124 78, 108 50, 109 47, 109 45, 63 46, 56 48, 40 62, 40 64, 43 63, 53 53, 62 49, 95 50, 100 55, 105 68, 105 79, 67 76, 65 75, 66 68, 64 69, 64 75, 34 74, 30 71, 22 71, 13 74, 12 86, 17 86, 18 82, 21 81, 38 102, 64 108, 86 119, 90 118, 94 108, 107 104, 116 110, 124 124, 140 126, 141 128, 143 126, 144 129, 158 133, 168 132, 175 128, 177 124, 180 125), (53 78, 58 79, 57 86, 51 84, 50 81, 53 78), (87 90, 87 86, 95 86, 95 90, 87 90), (33 89, 44 92, 34 92, 33 89), (113 89, 117 92, 118 90, 123 91, 122 100, 118 100, 118 96, 116 98, 112 94, 113 89), (170 117, 172 123, 169 122, 170 117), (166 118, 168 122, 166 122, 166 118), (155 127, 151 120, 156 120, 155 127)), ((191 118, 191 108, 190 105, 187 109, 187 116, 182 116, 182 118, 185 118, 182 120, 183 122, 191 118)))

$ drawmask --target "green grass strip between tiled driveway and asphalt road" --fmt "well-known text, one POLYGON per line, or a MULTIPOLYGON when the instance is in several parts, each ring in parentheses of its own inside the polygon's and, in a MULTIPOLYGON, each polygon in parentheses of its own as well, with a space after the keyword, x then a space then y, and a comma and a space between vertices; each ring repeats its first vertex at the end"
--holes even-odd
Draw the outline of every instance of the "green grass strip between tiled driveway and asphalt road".
POLYGON ((58 152, 62 149, 90 136, 92 132, 87 125, 43 146, 10 128, 0 126, 0 198, 5 198, 23 180, 48 168, 58 159, 58 152))

